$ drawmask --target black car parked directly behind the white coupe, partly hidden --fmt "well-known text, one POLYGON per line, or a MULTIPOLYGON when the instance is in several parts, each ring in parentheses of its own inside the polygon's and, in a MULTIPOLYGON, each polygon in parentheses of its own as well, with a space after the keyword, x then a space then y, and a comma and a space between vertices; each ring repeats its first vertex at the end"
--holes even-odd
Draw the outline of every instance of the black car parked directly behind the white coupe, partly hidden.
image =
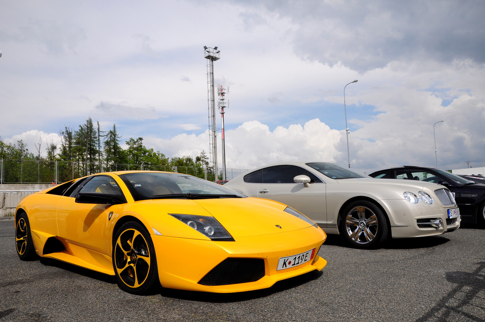
POLYGON ((475 183, 448 171, 404 165, 376 171, 369 176, 381 179, 420 180, 441 184, 453 193, 462 223, 485 223, 485 184, 475 183))

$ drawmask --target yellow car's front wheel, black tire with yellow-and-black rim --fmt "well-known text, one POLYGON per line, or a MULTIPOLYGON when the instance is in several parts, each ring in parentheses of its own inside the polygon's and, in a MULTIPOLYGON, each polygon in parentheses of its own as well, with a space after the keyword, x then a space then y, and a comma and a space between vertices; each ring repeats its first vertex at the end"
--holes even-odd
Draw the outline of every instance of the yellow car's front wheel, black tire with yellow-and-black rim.
POLYGON ((120 289, 141 295, 160 287, 155 248, 143 225, 122 225, 113 238, 112 256, 120 289))

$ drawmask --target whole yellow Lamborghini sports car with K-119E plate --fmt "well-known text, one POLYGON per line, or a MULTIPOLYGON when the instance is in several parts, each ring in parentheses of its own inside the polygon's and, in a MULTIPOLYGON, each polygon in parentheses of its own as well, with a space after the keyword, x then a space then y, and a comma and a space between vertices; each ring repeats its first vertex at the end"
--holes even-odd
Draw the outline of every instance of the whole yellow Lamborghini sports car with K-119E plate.
POLYGON ((134 294, 257 290, 326 265, 325 233, 298 211, 178 173, 82 177, 28 195, 15 219, 20 259, 116 275, 134 294))

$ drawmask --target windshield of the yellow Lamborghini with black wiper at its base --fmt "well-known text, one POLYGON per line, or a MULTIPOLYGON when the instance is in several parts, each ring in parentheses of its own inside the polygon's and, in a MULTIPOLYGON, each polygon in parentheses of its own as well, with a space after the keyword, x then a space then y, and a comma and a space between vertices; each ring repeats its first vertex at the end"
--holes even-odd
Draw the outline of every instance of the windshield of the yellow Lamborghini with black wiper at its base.
POLYGON ((220 184, 178 173, 134 172, 120 175, 120 177, 135 201, 245 197, 220 184))

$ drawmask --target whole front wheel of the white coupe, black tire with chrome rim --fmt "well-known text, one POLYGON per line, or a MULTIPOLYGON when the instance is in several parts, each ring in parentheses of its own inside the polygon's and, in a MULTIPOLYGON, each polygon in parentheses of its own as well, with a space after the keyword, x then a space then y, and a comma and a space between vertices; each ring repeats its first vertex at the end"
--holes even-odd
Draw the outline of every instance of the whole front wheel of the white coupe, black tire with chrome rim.
POLYGON ((349 204, 341 214, 340 234, 356 248, 374 248, 388 238, 388 221, 382 210, 367 200, 349 204))

